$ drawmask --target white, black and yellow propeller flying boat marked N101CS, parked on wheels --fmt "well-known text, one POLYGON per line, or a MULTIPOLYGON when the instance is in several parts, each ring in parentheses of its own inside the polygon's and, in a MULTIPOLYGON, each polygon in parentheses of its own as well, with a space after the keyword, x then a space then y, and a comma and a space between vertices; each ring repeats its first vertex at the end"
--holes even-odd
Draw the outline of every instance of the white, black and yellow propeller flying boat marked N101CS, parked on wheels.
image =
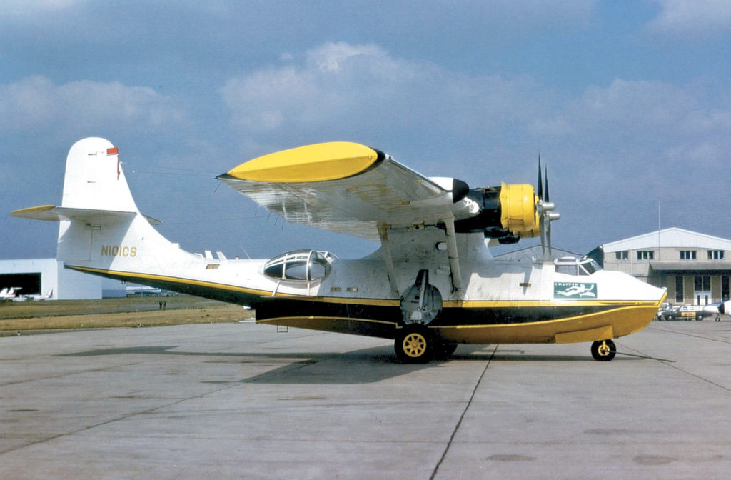
POLYGON ((376 149, 319 143, 245 162, 217 177, 289 222, 373 239, 358 260, 297 250, 232 260, 181 250, 140 214, 102 138, 69 151, 61 206, 13 211, 60 221, 67 269, 250 306, 258 323, 394 339, 401 361, 448 356, 461 343, 593 342, 643 329, 665 291, 587 258, 495 260, 489 244, 540 236, 558 219, 548 182, 469 188, 427 178, 376 149))

